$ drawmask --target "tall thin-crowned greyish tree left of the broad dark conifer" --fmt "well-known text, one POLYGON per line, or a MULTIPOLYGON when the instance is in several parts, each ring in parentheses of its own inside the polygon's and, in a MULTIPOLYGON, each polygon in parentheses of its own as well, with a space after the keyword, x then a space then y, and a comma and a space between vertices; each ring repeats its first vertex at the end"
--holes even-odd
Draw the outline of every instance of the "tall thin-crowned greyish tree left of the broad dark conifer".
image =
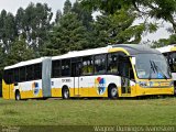
POLYGON ((35 51, 36 57, 41 56, 41 51, 45 41, 47 41, 47 32, 51 30, 51 20, 53 13, 46 3, 30 3, 23 10, 20 8, 16 13, 16 25, 19 36, 25 38, 28 45, 35 51))

